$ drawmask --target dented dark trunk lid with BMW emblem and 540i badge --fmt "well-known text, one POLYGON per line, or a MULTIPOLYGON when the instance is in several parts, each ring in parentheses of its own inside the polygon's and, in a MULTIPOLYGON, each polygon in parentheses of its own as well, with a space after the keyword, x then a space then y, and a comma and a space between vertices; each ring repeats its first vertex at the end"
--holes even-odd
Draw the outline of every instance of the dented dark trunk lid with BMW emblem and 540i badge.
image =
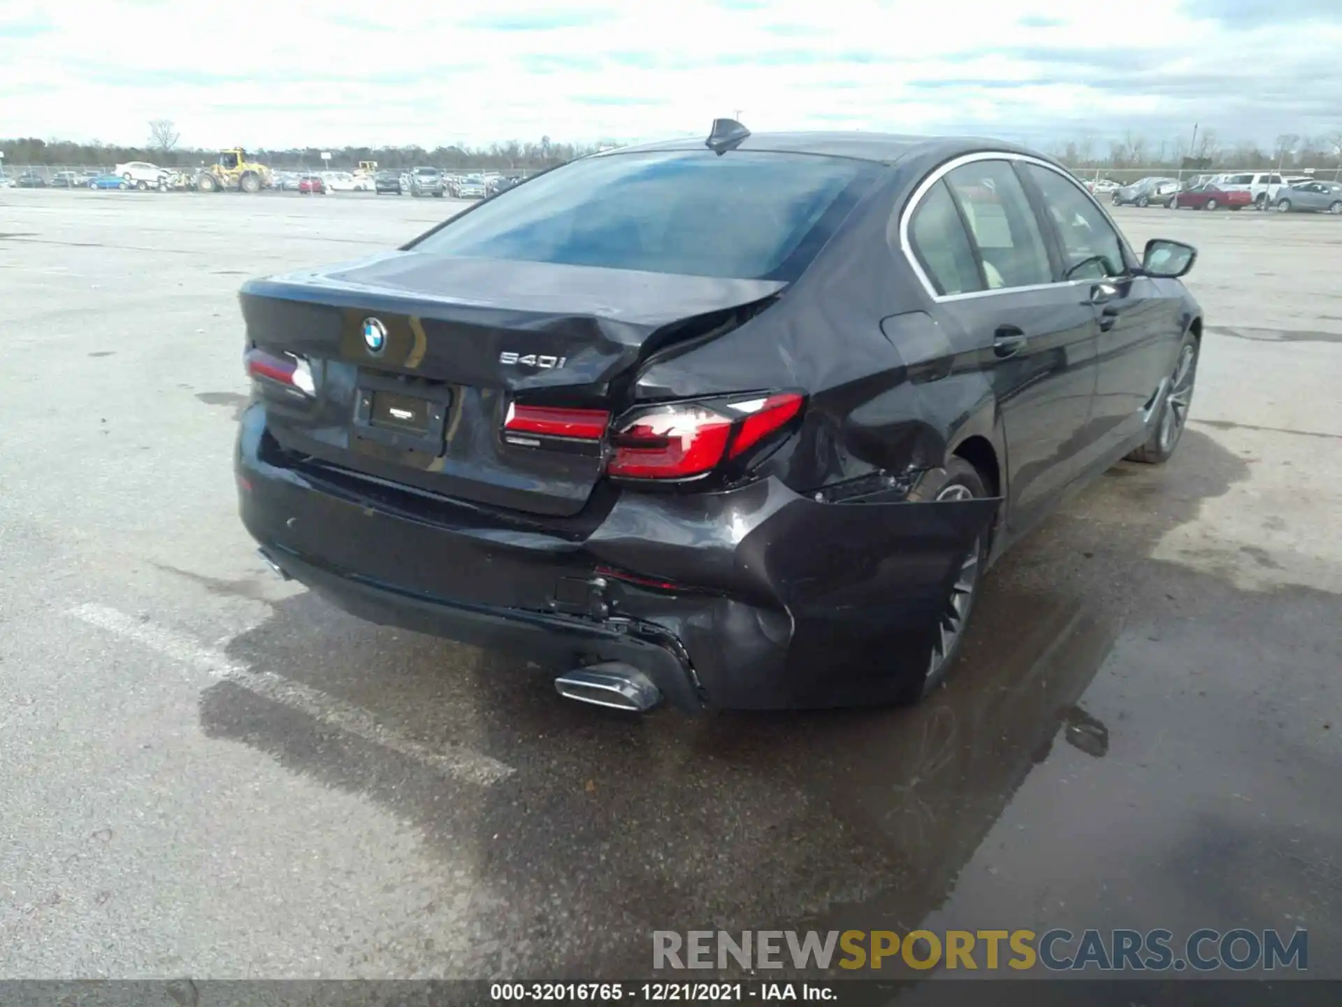
POLYGON ((603 452, 505 443, 509 403, 619 412, 650 353, 784 286, 397 251, 251 281, 239 297, 250 345, 311 367, 310 399, 262 392, 282 448, 382 482, 568 517, 601 478, 603 452))

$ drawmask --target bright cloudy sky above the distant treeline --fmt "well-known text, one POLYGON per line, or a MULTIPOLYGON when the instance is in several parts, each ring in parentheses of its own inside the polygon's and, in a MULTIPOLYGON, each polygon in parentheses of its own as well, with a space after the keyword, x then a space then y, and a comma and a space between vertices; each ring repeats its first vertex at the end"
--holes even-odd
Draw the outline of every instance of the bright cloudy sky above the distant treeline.
POLYGON ((1342 0, 0 0, 0 136, 1342 130, 1342 0))

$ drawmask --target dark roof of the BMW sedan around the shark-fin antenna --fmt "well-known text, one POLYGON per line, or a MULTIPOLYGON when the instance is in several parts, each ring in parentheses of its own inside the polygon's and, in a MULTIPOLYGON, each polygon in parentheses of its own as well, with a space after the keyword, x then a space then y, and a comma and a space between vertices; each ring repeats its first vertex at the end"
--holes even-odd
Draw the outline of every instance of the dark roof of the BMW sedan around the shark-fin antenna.
MULTIPOLYGON (((620 146, 603 150, 593 157, 616 157, 631 153, 658 150, 705 150, 705 137, 679 137, 660 140, 635 146, 620 146)), ((752 133, 734 150, 766 150, 770 153, 824 154, 829 157, 851 157, 860 161, 894 164, 909 154, 938 153, 954 157, 957 153, 974 150, 1005 150, 1008 153, 1033 154, 1031 150, 1001 140, 965 136, 913 136, 905 133, 867 133, 866 130, 815 130, 804 133, 752 133)))

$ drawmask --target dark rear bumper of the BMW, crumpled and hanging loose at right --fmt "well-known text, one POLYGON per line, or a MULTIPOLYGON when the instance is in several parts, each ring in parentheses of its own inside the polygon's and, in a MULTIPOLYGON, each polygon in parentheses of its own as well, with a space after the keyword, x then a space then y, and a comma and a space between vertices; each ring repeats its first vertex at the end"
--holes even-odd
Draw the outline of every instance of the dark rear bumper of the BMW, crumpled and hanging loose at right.
POLYGON ((243 415, 240 513, 290 576, 376 623, 564 670, 621 661, 680 709, 902 698, 1000 502, 819 504, 774 481, 625 493, 574 541, 452 505, 425 516, 374 502, 286 467, 264 426, 263 407, 243 415))

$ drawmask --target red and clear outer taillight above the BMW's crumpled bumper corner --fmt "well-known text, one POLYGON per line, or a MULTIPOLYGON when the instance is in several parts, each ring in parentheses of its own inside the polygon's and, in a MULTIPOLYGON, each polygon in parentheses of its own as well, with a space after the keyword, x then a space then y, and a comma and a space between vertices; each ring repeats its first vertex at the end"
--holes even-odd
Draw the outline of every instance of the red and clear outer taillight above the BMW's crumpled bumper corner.
POLYGON ((682 403, 641 410, 611 438, 607 465, 624 479, 690 479, 770 440, 801 412, 796 392, 737 401, 682 403))

